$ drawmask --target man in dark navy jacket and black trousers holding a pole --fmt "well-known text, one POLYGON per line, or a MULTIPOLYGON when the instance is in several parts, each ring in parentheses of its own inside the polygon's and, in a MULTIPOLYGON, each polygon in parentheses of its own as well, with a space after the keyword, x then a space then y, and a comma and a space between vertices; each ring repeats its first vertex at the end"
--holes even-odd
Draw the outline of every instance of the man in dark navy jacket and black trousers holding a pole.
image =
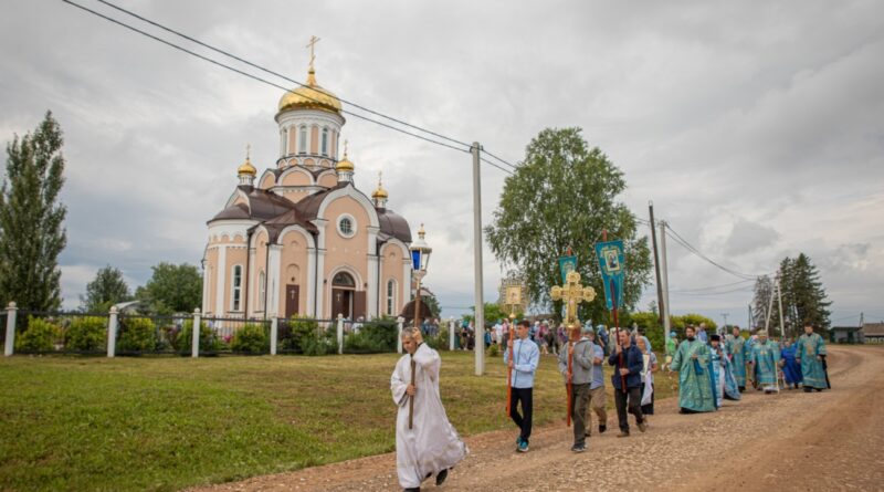
POLYGON ((620 422, 619 438, 629 437, 629 414, 635 416, 635 425, 639 430, 644 432, 646 423, 642 416, 642 368, 644 359, 641 350, 632 343, 629 332, 618 331, 618 344, 608 357, 608 364, 614 366, 614 374, 611 375, 611 383, 614 387, 614 406, 617 407, 617 419, 620 422), (625 385, 625 386, 624 386, 625 385))

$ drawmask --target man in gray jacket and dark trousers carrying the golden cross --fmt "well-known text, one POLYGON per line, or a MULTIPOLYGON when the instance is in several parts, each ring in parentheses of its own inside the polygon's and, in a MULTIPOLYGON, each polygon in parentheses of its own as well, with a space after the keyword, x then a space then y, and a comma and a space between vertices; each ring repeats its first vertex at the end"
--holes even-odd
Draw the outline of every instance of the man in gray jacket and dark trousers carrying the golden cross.
POLYGON ((571 420, 573 420, 573 446, 571 451, 587 450, 587 404, 589 386, 592 383, 592 342, 587 337, 591 326, 581 329, 579 339, 568 342, 568 349, 559 353, 559 373, 568 384, 568 359, 571 359, 571 420))

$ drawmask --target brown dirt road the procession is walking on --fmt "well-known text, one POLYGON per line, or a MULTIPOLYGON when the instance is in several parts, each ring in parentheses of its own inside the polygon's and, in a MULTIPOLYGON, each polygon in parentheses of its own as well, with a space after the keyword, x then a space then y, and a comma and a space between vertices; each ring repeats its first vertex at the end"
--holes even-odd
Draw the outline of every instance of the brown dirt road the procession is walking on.
MULTIPOLYGON (((646 433, 628 439, 615 437, 612 415, 613 431, 593 435, 582 454, 569 451, 564 422, 536 429, 527 454, 513 452, 514 431, 472 437, 471 456, 438 490, 884 490, 884 349, 830 354, 831 391, 749 392, 693 416, 671 398, 656 404, 646 433)), ((383 454, 201 490, 396 491, 394 463, 383 454)))

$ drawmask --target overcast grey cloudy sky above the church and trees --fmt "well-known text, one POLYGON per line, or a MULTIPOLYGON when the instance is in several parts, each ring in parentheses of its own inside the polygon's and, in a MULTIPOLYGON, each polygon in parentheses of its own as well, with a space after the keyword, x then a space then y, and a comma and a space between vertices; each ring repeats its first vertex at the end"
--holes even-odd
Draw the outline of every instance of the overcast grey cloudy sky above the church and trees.
MULTIPOLYGON (((806 252, 833 324, 884 318, 881 2, 119 6, 301 81, 317 35, 325 87, 513 163, 543 128, 579 126, 625 172, 622 200, 640 217, 653 200, 691 244, 740 272, 806 252)), ((62 1, 8 2, 0 46, 3 140, 46 109, 65 132, 65 307, 105 264, 133 287, 160 261, 199 264, 246 144, 259 168, 277 157, 282 91, 62 1)), ((470 156, 355 117, 344 133, 357 186, 370 190, 382 170, 390 208, 425 222, 427 282, 444 314, 472 305, 470 156)), ((504 176, 483 168, 485 222, 504 176)), ((493 300, 501 268, 487 248, 485 260, 493 300)), ((669 264, 673 313, 745 325, 750 283, 671 240, 669 264)), ((651 285, 642 305, 654 296, 651 285)))

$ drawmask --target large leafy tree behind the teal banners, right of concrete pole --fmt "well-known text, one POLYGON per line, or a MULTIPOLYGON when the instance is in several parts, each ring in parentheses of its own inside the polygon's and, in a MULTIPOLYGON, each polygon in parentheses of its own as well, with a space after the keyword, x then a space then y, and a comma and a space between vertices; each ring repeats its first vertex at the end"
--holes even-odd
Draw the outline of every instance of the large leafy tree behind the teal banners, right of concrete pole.
MULTIPOLYGON (((485 231, 497 259, 524 278, 533 302, 552 304, 549 289, 561 284, 558 257, 569 247, 578 258, 583 284, 603 296, 594 243, 608 230, 609 239, 625 243, 627 275, 623 300, 638 302, 651 275, 648 238, 639 237, 635 217, 618 201, 627 182, 598 147, 589 148, 580 128, 547 128, 528 144, 525 159, 506 178, 494 220, 485 231)), ((580 320, 608 318, 603 301, 583 303, 580 320)))

